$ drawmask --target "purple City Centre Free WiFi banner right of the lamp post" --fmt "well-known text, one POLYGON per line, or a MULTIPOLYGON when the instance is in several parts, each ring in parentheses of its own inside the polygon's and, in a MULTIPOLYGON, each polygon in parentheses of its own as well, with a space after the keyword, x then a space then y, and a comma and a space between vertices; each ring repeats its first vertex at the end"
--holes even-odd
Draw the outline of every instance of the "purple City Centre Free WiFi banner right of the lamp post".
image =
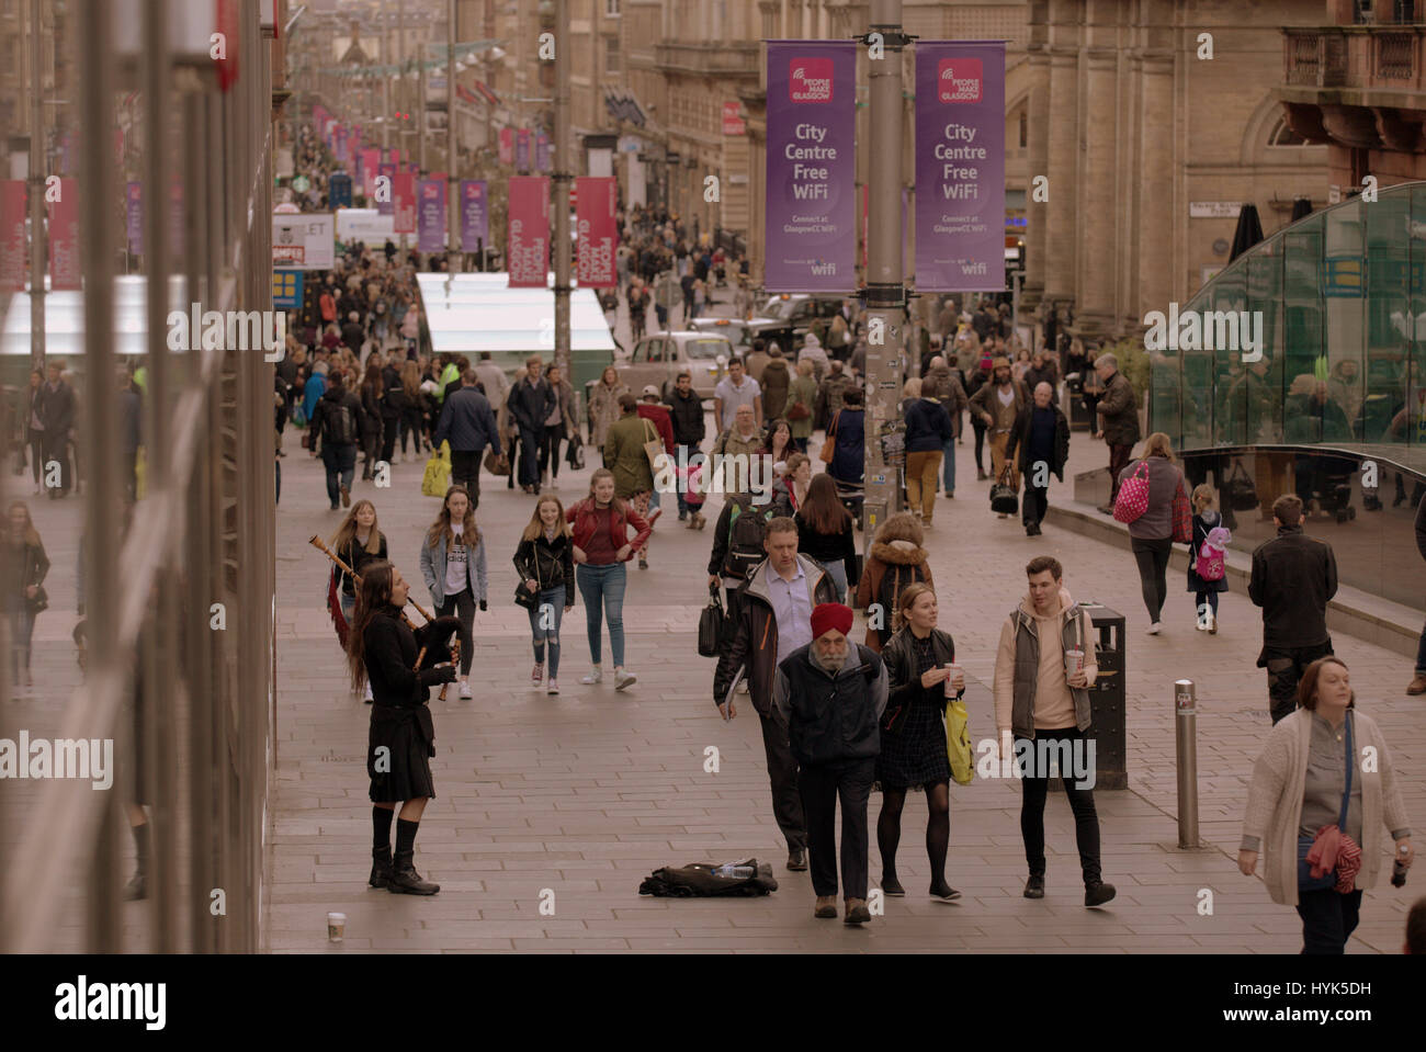
POLYGON ((915 44, 915 288, 1005 288, 1005 46, 915 44))

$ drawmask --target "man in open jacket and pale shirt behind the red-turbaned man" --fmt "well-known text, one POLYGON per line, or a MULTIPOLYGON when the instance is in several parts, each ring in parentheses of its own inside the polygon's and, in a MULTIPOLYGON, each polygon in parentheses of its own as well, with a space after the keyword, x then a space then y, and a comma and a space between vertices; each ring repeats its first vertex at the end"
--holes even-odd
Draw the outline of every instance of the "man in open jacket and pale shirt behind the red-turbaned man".
POLYGON ((797 871, 807 868, 807 830, 787 723, 773 707, 774 676, 789 654, 811 643, 813 607, 836 603, 837 589, 831 574, 797 555, 797 523, 791 519, 777 517, 767 523, 763 550, 767 559, 737 589, 736 634, 719 657, 713 701, 723 718, 736 717, 733 683, 746 677, 753 708, 763 721, 773 814, 787 840, 787 868, 797 871))

